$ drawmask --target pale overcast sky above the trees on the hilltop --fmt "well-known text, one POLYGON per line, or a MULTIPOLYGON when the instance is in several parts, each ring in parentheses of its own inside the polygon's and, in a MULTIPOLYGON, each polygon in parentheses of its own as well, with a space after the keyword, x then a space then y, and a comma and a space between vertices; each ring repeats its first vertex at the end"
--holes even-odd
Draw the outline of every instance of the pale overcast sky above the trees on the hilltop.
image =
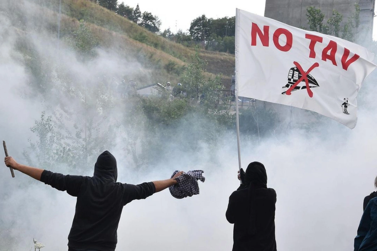
MULTIPOLYGON (((121 2, 121 0, 119 1, 121 2)), ((205 14, 208 18, 232 17, 236 8, 264 16, 265 0, 233 0, 233 1, 176 1, 176 0, 126 0, 125 5, 135 8, 139 3, 140 11, 152 12, 162 21, 161 31, 170 27, 175 33, 182 29, 187 31, 196 17, 205 14)), ((373 38, 377 40, 377 22, 374 18, 373 38)))

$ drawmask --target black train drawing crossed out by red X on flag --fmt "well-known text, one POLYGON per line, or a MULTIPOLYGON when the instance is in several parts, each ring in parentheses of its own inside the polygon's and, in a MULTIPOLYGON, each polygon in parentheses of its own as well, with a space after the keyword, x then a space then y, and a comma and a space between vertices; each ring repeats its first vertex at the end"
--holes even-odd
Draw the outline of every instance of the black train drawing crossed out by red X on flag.
POLYGON ((288 83, 282 87, 288 88, 288 90, 282 92, 282 94, 290 95, 291 91, 306 89, 308 91, 309 96, 313 97, 313 92, 310 90, 310 88, 319 87, 319 84, 317 83, 316 79, 309 74, 309 72, 314 68, 318 67, 319 64, 315 63, 310 67, 310 69, 307 72, 302 70, 302 67, 299 63, 294 62, 294 65, 296 65, 296 67, 292 67, 289 70, 288 83), (304 82, 305 84, 302 84, 302 82, 304 82))

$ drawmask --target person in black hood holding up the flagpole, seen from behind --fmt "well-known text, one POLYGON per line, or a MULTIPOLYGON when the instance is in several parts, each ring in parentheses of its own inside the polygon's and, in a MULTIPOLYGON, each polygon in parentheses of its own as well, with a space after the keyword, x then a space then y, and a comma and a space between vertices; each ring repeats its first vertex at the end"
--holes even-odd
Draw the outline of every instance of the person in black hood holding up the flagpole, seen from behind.
POLYGON ((226 218, 233 227, 233 251, 276 251, 276 192, 267 188, 264 165, 252 162, 239 172, 241 186, 229 197, 226 218))

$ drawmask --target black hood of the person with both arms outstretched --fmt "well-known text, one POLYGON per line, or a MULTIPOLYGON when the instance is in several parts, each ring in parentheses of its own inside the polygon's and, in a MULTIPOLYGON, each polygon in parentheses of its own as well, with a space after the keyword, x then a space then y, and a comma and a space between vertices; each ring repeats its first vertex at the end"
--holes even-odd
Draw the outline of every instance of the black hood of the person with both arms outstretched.
POLYGON ((109 151, 104 151, 97 158, 94 165, 94 177, 105 178, 115 181, 118 178, 118 169, 116 168, 116 159, 109 151))

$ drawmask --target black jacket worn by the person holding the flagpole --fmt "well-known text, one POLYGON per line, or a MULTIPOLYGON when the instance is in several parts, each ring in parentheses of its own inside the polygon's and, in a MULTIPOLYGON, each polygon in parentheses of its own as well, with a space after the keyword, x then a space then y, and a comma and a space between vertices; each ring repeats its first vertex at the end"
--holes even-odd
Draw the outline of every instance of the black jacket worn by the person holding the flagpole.
POLYGON ((233 251, 276 251, 276 192, 272 188, 258 188, 254 196, 253 208, 256 214, 254 234, 250 234, 249 231, 248 186, 241 185, 229 197, 226 217, 229 223, 234 223, 233 251))

